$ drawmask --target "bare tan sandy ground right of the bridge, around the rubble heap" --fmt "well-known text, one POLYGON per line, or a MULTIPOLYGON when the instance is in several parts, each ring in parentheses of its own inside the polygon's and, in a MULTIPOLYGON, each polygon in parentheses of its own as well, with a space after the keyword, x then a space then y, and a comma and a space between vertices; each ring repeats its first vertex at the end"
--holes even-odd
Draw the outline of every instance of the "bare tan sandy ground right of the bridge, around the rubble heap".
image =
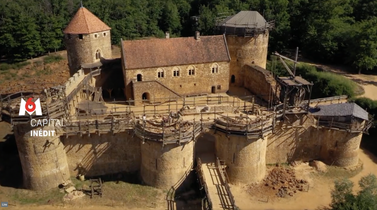
MULTIPOLYGON (((361 177, 373 173, 377 175, 377 158, 366 150, 360 150, 360 161, 363 163, 362 171, 350 178, 357 183, 361 177)), ((313 169, 307 166, 296 169, 297 178, 305 179, 309 182, 308 192, 299 192, 293 197, 285 198, 267 196, 251 197, 246 192, 245 186, 231 187, 231 191, 236 198, 236 204, 242 210, 325 210, 331 202, 331 190, 334 187, 334 179, 318 177, 310 174, 313 169), (268 202, 267 202, 268 201, 268 202), (252 204, 252 207, 251 205, 252 204)), ((359 190, 356 184, 354 190, 359 190)))

